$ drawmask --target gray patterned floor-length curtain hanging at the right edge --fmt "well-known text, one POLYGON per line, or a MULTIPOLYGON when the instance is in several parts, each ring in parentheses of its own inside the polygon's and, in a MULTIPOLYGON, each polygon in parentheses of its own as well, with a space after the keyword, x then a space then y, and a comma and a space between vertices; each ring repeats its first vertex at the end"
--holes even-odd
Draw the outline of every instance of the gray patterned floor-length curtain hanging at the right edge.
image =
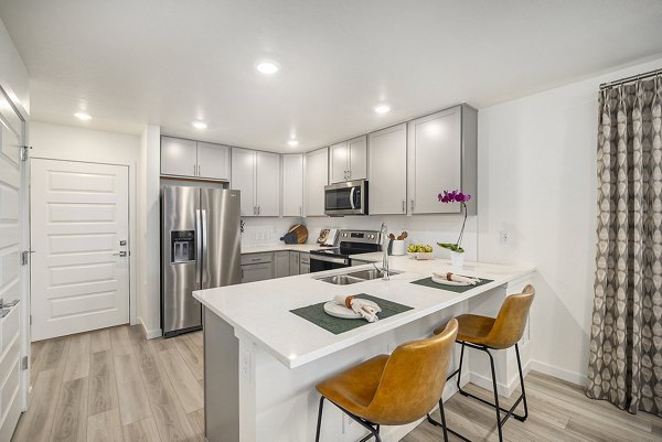
POLYGON ((662 416, 662 78, 600 91, 586 394, 662 416))

